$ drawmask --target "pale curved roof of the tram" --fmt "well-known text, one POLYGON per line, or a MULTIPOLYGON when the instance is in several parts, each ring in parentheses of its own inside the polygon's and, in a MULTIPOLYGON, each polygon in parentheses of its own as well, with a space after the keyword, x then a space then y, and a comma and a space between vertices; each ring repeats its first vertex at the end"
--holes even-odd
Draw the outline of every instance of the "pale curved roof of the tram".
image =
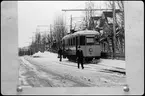
POLYGON ((77 32, 75 32, 73 34, 69 34, 69 35, 64 36, 63 39, 66 39, 66 38, 69 38, 69 37, 73 37, 73 36, 76 36, 76 35, 87 35, 87 34, 97 34, 97 35, 99 35, 99 32, 95 31, 95 30, 77 31, 77 32))

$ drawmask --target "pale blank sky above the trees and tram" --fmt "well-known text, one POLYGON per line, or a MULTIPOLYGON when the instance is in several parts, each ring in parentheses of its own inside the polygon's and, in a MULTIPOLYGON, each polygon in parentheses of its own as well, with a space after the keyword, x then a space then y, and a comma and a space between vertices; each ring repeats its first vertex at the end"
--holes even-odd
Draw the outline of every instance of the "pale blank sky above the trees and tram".
MULTIPOLYGON (((67 11, 62 9, 84 9, 87 1, 18 1, 18 42, 19 47, 28 46, 34 37, 37 25, 42 32, 49 33, 49 26, 56 16, 62 15, 66 25, 70 23, 70 16, 83 17, 82 11, 67 11)), ((102 8, 105 1, 95 1, 95 8, 102 8), (101 7, 99 6, 101 5, 101 7)), ((76 18, 77 19, 77 18, 76 18)))

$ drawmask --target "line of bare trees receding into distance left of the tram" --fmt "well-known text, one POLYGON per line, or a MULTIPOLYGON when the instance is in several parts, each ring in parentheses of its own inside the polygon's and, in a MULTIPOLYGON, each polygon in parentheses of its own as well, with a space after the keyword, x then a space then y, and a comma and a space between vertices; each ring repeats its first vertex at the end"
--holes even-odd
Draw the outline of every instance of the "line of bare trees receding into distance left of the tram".
POLYGON ((61 46, 61 39, 67 34, 67 27, 61 15, 55 17, 49 33, 36 32, 31 44, 27 48, 19 48, 19 56, 32 55, 37 52, 57 52, 61 46))

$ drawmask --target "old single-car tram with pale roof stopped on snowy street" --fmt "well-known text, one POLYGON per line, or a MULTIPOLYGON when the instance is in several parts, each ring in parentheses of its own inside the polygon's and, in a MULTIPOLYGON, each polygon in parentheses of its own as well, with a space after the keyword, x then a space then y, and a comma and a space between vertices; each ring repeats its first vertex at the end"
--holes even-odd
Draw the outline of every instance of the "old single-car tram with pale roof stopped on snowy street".
POLYGON ((62 38, 63 57, 75 60, 79 46, 83 51, 85 61, 90 61, 93 58, 99 59, 101 56, 99 32, 83 30, 64 36, 62 38))

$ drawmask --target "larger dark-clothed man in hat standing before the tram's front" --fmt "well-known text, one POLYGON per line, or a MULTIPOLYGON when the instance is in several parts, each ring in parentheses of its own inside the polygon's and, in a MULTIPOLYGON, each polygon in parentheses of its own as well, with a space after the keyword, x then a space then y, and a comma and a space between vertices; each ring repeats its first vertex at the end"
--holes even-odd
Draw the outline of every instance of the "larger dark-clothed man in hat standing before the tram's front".
POLYGON ((76 52, 76 56, 77 56, 77 63, 78 63, 78 68, 79 68, 79 64, 81 63, 82 69, 84 69, 83 66, 83 51, 81 50, 80 46, 78 47, 78 50, 76 52))

